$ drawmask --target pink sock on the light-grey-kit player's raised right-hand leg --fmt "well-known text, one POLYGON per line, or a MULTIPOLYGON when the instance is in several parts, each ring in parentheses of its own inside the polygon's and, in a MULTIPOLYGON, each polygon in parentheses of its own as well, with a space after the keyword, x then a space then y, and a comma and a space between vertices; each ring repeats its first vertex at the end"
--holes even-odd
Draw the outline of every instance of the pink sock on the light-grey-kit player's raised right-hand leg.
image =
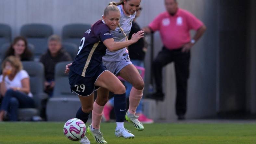
POLYGON ((130 114, 135 114, 136 113, 136 109, 140 103, 140 100, 142 98, 142 90, 137 90, 134 87, 132 88, 131 92, 130 92, 130 97, 129 97, 129 113, 130 114))

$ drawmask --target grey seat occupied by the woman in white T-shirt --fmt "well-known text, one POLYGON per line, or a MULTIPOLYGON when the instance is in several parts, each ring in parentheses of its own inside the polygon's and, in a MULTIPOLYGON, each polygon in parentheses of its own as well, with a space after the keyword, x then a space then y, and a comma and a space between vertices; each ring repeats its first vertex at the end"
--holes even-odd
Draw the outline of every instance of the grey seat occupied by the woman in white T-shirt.
POLYGON ((31 120, 33 116, 40 115, 42 100, 48 98, 47 94, 44 93, 44 65, 34 61, 22 62, 22 65, 30 76, 30 89, 35 108, 20 108, 18 118, 19 120, 31 120))

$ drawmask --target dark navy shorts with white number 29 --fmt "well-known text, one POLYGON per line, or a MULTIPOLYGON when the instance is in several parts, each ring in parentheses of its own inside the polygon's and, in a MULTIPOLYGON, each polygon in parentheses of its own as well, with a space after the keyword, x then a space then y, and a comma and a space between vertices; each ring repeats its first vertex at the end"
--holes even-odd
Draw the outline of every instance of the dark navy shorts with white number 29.
POLYGON ((69 72, 69 84, 71 92, 75 92, 81 96, 89 96, 93 93, 94 90, 98 90, 100 87, 95 86, 95 82, 98 77, 104 72, 107 71, 107 68, 101 65, 93 77, 83 77, 76 74, 72 70, 69 72))

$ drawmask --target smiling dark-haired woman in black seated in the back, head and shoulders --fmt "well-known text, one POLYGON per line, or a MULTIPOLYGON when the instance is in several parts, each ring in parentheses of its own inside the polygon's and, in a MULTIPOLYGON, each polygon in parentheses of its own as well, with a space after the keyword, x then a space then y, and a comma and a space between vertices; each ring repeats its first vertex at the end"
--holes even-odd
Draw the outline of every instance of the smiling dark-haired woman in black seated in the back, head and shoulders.
POLYGON ((28 49, 28 42, 24 37, 16 37, 10 47, 6 50, 5 57, 13 55, 21 61, 32 61, 33 54, 28 49))

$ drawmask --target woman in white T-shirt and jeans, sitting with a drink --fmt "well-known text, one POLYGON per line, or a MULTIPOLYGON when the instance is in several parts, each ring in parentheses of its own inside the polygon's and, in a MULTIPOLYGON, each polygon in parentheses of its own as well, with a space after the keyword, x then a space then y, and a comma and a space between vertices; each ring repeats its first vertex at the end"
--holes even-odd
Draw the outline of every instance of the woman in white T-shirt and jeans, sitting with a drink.
POLYGON ((15 56, 9 56, 4 60, 2 69, 0 93, 3 100, 0 107, 0 121, 3 121, 6 112, 11 121, 17 121, 18 108, 34 107, 29 75, 22 69, 20 60, 15 56))

